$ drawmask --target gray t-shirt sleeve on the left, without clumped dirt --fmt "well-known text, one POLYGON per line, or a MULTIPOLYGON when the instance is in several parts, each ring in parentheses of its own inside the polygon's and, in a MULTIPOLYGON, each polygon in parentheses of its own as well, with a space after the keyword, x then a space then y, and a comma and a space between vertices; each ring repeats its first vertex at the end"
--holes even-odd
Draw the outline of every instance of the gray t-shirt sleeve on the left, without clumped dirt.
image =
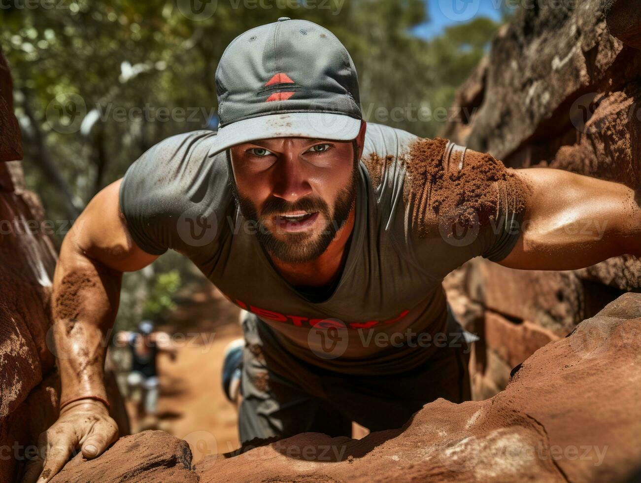
POLYGON ((209 157, 212 131, 169 137, 134 162, 122 178, 120 209, 133 241, 147 253, 189 255, 214 245, 230 201, 224 153, 209 157))

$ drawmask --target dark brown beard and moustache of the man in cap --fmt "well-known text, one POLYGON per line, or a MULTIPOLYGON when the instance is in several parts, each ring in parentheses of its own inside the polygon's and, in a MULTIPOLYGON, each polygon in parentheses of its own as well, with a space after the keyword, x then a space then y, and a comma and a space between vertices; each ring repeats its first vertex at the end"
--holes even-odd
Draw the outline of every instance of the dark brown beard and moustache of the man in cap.
POLYGON ((271 196, 263 203, 259 215, 251 199, 240 196, 235 186, 232 191, 242 216, 256 226, 256 237, 271 257, 288 263, 310 262, 327 250, 329 244, 336 238, 338 230, 345 225, 356 201, 356 173, 358 171, 355 167, 349 185, 338 192, 333 209, 330 209, 326 201, 321 198, 307 197, 290 203, 285 199, 271 196), (308 213, 318 212, 326 220, 325 226, 320 232, 281 233, 276 237, 263 223, 263 220, 270 216, 299 210, 308 213))

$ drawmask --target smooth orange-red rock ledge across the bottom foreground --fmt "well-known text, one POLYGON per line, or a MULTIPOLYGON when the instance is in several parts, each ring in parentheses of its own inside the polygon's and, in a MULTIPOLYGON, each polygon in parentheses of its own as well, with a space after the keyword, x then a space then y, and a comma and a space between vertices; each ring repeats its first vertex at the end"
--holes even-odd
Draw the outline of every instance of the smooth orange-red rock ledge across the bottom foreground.
POLYGON ((485 401, 439 399, 363 439, 299 434, 196 468, 184 441, 122 438, 77 455, 62 482, 632 481, 641 468, 641 294, 625 294, 540 348, 485 401))

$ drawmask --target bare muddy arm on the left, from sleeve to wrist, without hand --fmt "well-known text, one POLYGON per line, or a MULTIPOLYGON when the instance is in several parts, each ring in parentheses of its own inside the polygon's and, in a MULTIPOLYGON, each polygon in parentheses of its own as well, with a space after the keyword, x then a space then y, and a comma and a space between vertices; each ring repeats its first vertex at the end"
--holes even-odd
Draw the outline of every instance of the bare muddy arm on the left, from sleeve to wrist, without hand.
POLYGON ((104 334, 118 310, 122 272, 157 257, 140 250, 118 206, 120 181, 99 192, 78 217, 60 250, 53 282, 53 319, 62 378, 61 401, 103 387, 104 334), (59 351, 60 351, 59 350, 59 351))

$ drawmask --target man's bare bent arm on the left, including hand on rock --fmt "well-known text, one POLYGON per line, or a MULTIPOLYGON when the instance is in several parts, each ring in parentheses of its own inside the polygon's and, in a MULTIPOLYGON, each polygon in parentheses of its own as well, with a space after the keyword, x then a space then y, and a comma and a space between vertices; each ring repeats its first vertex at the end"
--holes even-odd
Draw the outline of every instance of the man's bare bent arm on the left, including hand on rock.
MULTIPOLYGON (((120 184, 112 183, 92 199, 60 250, 52 300, 61 403, 88 395, 106 399, 105 339, 118 310, 122 272, 141 269, 157 258, 129 237, 119 210, 120 184)), ((46 482, 74 448, 81 446, 85 457, 95 457, 116 437, 117 428, 103 403, 70 403, 40 436, 41 459, 31 464, 24 480, 35 481, 42 469, 38 483, 46 482)))

